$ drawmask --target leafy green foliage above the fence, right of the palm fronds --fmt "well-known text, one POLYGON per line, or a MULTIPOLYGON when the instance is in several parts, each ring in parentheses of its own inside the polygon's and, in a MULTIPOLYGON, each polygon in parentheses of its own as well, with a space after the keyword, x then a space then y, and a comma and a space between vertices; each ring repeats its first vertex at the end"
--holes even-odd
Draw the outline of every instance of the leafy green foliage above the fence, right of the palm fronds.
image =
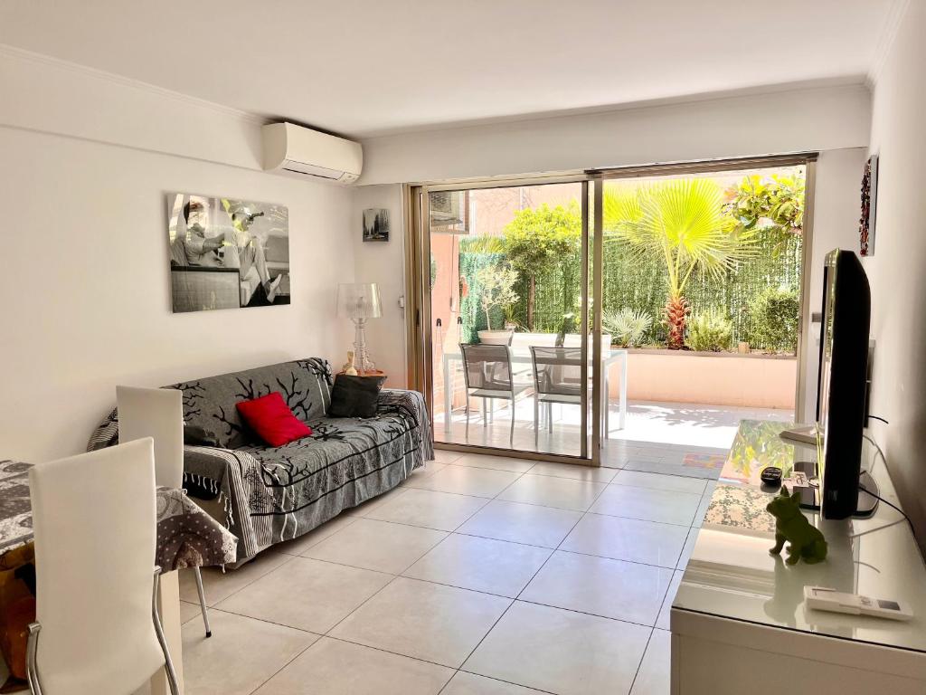
POLYGON ((745 230, 761 229, 778 238, 776 250, 789 235, 804 229, 803 173, 793 176, 745 176, 731 191, 728 214, 745 230))

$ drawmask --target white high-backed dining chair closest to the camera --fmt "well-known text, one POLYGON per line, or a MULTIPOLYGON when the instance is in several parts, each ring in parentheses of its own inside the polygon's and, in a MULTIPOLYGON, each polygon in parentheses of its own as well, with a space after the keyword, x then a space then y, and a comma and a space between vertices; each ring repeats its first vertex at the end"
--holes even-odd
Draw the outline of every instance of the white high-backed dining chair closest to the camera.
POLYGON ((157 614, 150 438, 29 471, 36 620, 26 653, 33 695, 131 693, 165 668, 157 614))

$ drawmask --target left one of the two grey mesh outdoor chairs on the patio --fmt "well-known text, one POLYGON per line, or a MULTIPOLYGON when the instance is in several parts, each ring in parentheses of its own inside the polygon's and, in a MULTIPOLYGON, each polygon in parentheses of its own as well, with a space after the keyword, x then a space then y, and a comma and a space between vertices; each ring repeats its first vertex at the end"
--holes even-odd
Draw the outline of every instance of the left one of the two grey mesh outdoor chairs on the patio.
POLYGON ((482 398, 482 426, 488 423, 489 398, 511 401, 511 431, 509 446, 515 439, 515 398, 531 388, 514 380, 511 353, 507 345, 460 345, 463 355, 463 378, 466 384, 466 436, 469 439, 469 398, 482 398))

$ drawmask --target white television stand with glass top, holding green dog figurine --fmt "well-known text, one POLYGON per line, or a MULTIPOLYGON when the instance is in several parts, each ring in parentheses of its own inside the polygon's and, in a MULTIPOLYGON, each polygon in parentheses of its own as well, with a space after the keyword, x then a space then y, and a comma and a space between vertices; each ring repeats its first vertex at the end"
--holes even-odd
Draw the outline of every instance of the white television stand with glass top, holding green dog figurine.
MULTIPOLYGON (((790 423, 744 421, 694 542, 672 601, 673 695, 923 695, 926 693, 926 567, 898 512, 864 493, 869 518, 821 519, 803 511, 829 546, 824 562, 789 565, 769 552, 775 522, 766 505, 777 489, 762 487, 769 465, 787 476, 816 447, 792 447, 779 434, 790 423), (805 587, 902 600, 913 620, 808 608, 805 587)), ((895 499, 881 461, 872 469, 878 494, 895 499)), ((870 487, 870 478, 862 486, 870 487)), ((691 538, 690 538, 691 540, 691 538)))

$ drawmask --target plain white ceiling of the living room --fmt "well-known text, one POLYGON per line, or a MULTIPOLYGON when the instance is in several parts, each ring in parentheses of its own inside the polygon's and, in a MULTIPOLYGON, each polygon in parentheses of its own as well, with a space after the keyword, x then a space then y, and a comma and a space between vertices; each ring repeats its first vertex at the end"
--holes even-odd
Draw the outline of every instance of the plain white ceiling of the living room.
POLYGON ((861 81, 896 0, 5 0, 0 43, 369 136, 861 81))

